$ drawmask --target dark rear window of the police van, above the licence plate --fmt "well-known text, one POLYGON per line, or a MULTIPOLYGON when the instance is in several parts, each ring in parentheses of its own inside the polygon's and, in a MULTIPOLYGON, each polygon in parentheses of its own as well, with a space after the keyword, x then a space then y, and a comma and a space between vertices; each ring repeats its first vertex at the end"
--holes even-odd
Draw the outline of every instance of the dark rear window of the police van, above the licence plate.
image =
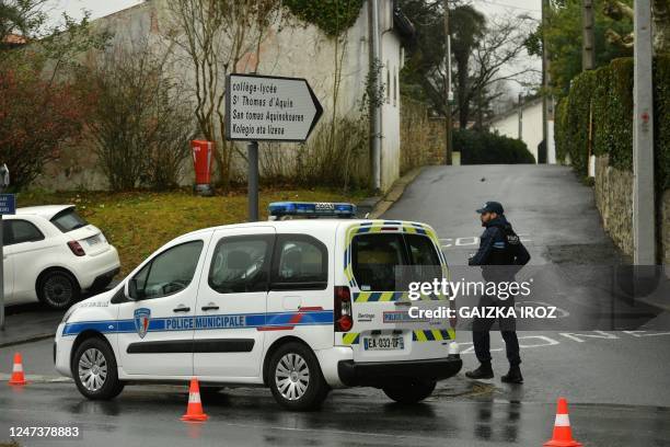
POLYGON ((407 290, 409 282, 441 277, 435 245, 420 234, 359 234, 354 238, 351 257, 361 290, 407 290))

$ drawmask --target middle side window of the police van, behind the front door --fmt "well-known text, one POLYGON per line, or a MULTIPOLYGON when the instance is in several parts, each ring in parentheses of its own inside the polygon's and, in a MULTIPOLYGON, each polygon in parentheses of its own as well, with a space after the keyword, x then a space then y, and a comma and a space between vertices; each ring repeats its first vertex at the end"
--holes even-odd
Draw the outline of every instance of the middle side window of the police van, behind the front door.
POLYGON ((267 290, 273 236, 223 238, 209 267, 209 287, 219 294, 267 290))

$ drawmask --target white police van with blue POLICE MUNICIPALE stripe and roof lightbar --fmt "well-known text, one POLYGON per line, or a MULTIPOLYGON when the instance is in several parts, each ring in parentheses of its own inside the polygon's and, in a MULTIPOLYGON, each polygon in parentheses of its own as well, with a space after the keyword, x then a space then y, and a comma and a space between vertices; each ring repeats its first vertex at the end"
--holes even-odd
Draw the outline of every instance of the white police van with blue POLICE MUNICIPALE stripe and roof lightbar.
POLYGON ((461 369, 455 333, 448 321, 407 317, 446 298, 411 301, 394 270, 448 275, 438 239, 424 224, 343 219, 355 210, 278 203, 276 220, 176 238, 66 313, 56 369, 90 399, 194 376, 205 387, 267 386, 291 410, 353 386, 403 403, 427 398, 461 369))

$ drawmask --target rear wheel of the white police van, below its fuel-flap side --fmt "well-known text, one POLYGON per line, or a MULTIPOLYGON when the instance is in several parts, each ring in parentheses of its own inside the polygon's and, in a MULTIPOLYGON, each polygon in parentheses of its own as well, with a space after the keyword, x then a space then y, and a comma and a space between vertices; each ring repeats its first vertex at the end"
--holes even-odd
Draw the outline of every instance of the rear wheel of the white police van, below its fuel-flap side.
POLYGON ((317 409, 328 394, 319 360, 300 343, 288 343, 275 352, 268 381, 275 400, 288 410, 317 409))

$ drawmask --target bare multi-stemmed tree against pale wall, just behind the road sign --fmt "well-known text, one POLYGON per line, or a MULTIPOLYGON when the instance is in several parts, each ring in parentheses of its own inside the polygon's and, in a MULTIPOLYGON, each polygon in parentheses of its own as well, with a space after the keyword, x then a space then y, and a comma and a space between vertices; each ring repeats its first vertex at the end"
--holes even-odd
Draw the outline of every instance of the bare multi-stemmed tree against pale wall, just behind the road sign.
POLYGON ((239 69, 257 71, 261 43, 279 13, 280 1, 168 0, 168 5, 173 16, 168 37, 187 56, 198 129, 204 138, 217 141, 219 181, 227 186, 235 147, 224 135, 224 79, 239 69))

